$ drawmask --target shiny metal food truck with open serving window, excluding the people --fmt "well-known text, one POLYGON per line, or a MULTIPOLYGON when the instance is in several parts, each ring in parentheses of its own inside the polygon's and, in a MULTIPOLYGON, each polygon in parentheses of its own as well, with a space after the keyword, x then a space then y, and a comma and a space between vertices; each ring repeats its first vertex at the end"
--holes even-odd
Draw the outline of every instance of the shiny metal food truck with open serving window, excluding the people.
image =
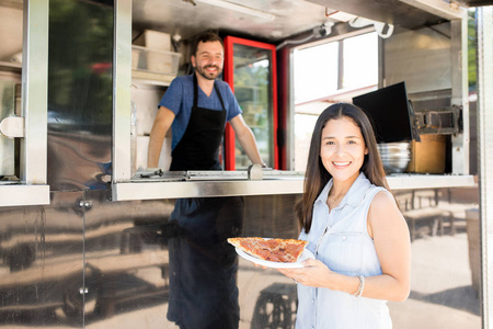
POLYGON ((298 236, 307 147, 296 132, 354 102, 374 120, 412 235, 411 296, 389 304, 395 328, 490 328, 490 4, 0 0, 0 326, 207 328, 234 314, 240 328, 294 328, 296 285, 226 238, 298 236), (147 167, 159 101, 192 72, 204 31, 223 39, 221 79, 266 169, 249 163, 229 125, 222 171, 170 171, 171 135, 147 167), (322 57, 310 53, 321 46, 322 57), (456 218, 465 189, 479 197, 456 218), (174 218, 176 200, 204 213, 174 218))

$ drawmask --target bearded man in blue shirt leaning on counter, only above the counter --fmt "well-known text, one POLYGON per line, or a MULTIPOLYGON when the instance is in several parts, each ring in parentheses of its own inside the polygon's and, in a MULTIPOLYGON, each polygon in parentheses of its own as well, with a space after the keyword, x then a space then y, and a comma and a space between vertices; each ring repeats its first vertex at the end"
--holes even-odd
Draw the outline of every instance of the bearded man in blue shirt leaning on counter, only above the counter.
POLYGON ((216 34, 205 33, 196 39, 191 56, 195 73, 175 78, 159 103, 150 133, 148 168, 158 167, 164 136, 172 127, 170 170, 219 170, 226 122, 250 160, 265 166, 231 89, 216 80, 222 72, 223 54, 222 41, 216 34))

